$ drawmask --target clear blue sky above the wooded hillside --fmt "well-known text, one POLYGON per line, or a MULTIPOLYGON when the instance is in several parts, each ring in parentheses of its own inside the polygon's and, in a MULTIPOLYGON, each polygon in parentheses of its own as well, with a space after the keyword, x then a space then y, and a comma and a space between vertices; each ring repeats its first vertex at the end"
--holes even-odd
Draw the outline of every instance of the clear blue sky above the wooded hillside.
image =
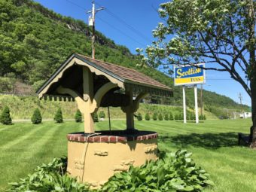
MULTIPOLYGON (((44 7, 59 14, 84 20, 87 23, 91 9, 90 0, 36 0, 44 7)), ((105 11, 96 14, 96 30, 102 32, 116 44, 125 45, 132 53, 137 47, 145 48, 153 41, 152 30, 161 22, 157 8, 161 0, 96 0, 96 8, 105 7, 105 11)), ((217 65, 217 64, 216 64, 217 65)), ((229 96, 251 106, 251 99, 242 86, 230 78, 227 72, 206 72, 204 89, 229 96)))

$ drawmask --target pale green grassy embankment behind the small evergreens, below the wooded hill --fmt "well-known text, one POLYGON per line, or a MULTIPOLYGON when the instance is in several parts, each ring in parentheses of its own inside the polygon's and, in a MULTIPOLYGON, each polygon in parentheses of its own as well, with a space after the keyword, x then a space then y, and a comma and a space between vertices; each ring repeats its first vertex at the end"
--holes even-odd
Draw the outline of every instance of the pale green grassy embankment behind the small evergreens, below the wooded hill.
MULTIPOLYGON (((36 96, 0 96, 0 111, 5 105, 8 105, 11 111, 11 117, 14 120, 30 119, 32 117, 35 108, 39 108, 43 119, 53 119, 54 114, 58 108, 62 108, 63 118, 74 119, 75 112, 78 107, 76 102, 59 102, 59 101, 44 101, 39 100, 36 96)), ((99 111, 104 111, 108 114, 107 108, 99 108, 99 111)), ((146 113, 149 113, 152 117, 154 112, 169 114, 172 112, 173 115, 181 114, 182 108, 169 106, 169 105, 150 105, 140 104, 139 113, 142 114, 143 118, 146 113)), ((125 118, 125 114, 120 108, 110 108, 111 118, 120 119, 125 118)), ((204 111, 207 119, 216 119, 214 114, 204 111)))

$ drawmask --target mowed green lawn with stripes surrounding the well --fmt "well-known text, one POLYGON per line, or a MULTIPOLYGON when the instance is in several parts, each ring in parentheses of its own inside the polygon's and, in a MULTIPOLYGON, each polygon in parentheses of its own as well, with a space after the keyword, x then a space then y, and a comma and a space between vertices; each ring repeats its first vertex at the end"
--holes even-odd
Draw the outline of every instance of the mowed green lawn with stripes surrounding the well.
MULTIPOLYGON (((112 120, 112 130, 123 130, 124 120, 112 120)), ((250 120, 206 120, 196 125, 176 121, 136 121, 139 130, 159 133, 159 148, 193 152, 194 161, 210 173, 215 187, 206 191, 256 191, 256 151, 237 146, 237 133, 248 133, 250 120)), ((0 191, 41 163, 67 153, 66 134, 83 131, 83 123, 53 122, 0 125, 0 191)), ((96 123, 106 130, 108 122, 96 123)))

